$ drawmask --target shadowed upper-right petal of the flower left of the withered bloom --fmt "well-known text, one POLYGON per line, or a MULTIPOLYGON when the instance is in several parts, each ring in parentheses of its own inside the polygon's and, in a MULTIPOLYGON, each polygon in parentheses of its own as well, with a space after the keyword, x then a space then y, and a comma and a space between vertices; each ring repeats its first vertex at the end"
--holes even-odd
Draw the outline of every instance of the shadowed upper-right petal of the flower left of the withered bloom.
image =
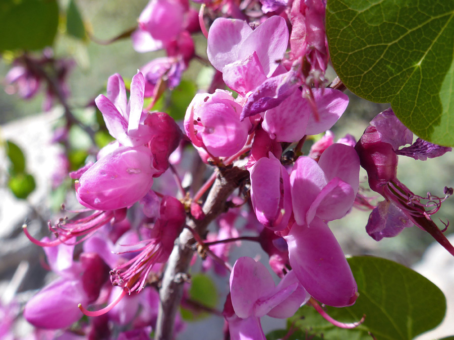
POLYGON ((352 186, 356 195, 359 187, 360 160, 354 148, 334 143, 322 153, 318 165, 325 172, 328 181, 339 177, 352 186))

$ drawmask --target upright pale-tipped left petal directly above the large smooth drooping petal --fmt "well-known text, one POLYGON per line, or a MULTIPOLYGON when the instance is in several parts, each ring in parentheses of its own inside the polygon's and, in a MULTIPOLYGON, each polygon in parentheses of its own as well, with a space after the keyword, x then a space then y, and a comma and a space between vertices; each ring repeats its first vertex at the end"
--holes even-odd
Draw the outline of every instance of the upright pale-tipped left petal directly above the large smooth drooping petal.
POLYGON ((327 184, 326 176, 316 161, 299 157, 290 174, 292 206, 295 221, 306 224, 306 214, 313 201, 327 184))

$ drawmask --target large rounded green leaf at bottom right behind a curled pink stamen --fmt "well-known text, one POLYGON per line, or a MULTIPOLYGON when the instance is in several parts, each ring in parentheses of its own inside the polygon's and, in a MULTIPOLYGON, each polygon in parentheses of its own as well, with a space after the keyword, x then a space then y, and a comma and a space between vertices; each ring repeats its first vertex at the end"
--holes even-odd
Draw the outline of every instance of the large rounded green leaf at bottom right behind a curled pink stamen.
POLYGON ((341 329, 325 321, 313 308, 303 306, 289 324, 314 331, 327 340, 337 339, 413 339, 437 326, 444 317, 443 293, 416 271, 377 257, 349 258, 360 296, 346 308, 327 307, 327 313, 342 322, 366 319, 355 329, 341 329), (301 319, 304 317, 303 319, 301 319))

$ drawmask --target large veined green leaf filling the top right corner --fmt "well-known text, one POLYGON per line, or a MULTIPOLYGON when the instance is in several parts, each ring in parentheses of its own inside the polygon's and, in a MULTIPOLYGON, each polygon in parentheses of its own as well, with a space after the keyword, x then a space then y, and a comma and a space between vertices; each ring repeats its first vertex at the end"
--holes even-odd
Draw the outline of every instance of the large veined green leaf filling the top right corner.
POLYGON ((334 69, 432 143, 454 146, 454 1, 328 0, 334 69))

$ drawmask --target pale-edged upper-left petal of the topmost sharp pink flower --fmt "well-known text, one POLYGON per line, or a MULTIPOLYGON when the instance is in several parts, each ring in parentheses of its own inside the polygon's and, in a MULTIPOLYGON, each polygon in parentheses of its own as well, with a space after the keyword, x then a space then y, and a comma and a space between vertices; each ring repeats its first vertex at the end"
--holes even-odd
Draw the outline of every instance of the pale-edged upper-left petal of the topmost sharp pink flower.
POLYGON ((214 20, 208 32, 208 59, 214 68, 222 72, 225 65, 243 59, 249 53, 243 55, 241 42, 252 33, 252 28, 238 19, 218 18, 214 20), (242 57, 239 55, 242 54, 242 57))

